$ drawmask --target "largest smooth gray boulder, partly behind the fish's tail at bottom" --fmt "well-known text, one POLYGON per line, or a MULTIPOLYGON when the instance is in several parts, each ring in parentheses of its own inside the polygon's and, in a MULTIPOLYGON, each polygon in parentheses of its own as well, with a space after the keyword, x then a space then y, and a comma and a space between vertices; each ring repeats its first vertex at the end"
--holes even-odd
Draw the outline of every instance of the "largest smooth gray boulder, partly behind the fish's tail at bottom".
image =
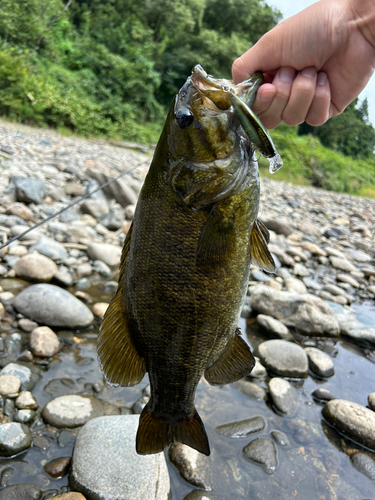
POLYGON ((70 473, 74 491, 91 500, 145 500, 150 492, 154 500, 169 498, 164 454, 135 451, 138 420, 135 415, 96 418, 80 430, 70 473))

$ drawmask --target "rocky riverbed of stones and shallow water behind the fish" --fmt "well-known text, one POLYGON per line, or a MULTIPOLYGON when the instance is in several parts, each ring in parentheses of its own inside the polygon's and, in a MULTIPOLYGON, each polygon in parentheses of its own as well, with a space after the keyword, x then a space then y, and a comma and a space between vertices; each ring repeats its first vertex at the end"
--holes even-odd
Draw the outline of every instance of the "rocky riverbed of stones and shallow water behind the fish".
POLYGON ((0 500, 375 498, 375 201, 273 179, 277 273, 252 268, 239 325, 257 364, 199 384, 210 457, 136 455, 147 379, 106 386, 95 342, 151 156, 0 122, 0 241, 129 172, 0 250, 0 500))

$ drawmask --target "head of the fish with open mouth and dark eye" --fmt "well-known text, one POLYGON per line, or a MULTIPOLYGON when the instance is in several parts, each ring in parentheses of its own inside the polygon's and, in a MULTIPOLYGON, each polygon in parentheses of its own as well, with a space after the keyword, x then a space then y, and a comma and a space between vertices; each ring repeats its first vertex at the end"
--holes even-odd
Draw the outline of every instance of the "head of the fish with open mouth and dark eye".
POLYGON ((253 148, 228 90, 251 106, 262 81, 255 73, 234 85, 197 65, 176 95, 168 132, 170 184, 188 205, 206 206, 241 189, 253 148))

